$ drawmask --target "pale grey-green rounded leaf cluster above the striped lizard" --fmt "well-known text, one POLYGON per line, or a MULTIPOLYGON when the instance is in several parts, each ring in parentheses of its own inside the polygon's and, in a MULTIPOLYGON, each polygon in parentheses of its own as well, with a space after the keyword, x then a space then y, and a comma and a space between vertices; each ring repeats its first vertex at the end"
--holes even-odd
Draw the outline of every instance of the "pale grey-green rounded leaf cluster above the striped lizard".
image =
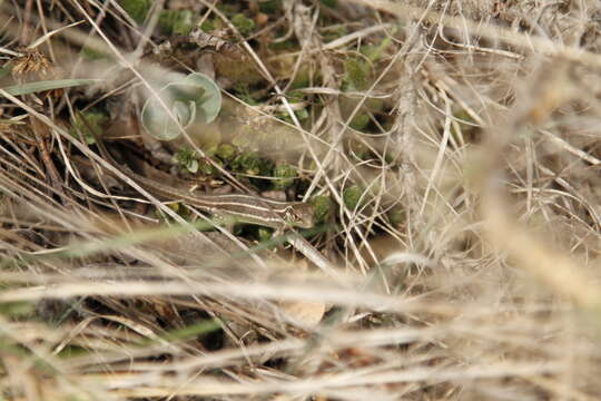
POLYGON ((211 123, 220 109, 221 92, 209 77, 174 74, 158 90, 158 98, 151 97, 144 105, 142 127, 159 140, 171 140, 181 134, 178 125, 187 128, 195 123, 211 123))

